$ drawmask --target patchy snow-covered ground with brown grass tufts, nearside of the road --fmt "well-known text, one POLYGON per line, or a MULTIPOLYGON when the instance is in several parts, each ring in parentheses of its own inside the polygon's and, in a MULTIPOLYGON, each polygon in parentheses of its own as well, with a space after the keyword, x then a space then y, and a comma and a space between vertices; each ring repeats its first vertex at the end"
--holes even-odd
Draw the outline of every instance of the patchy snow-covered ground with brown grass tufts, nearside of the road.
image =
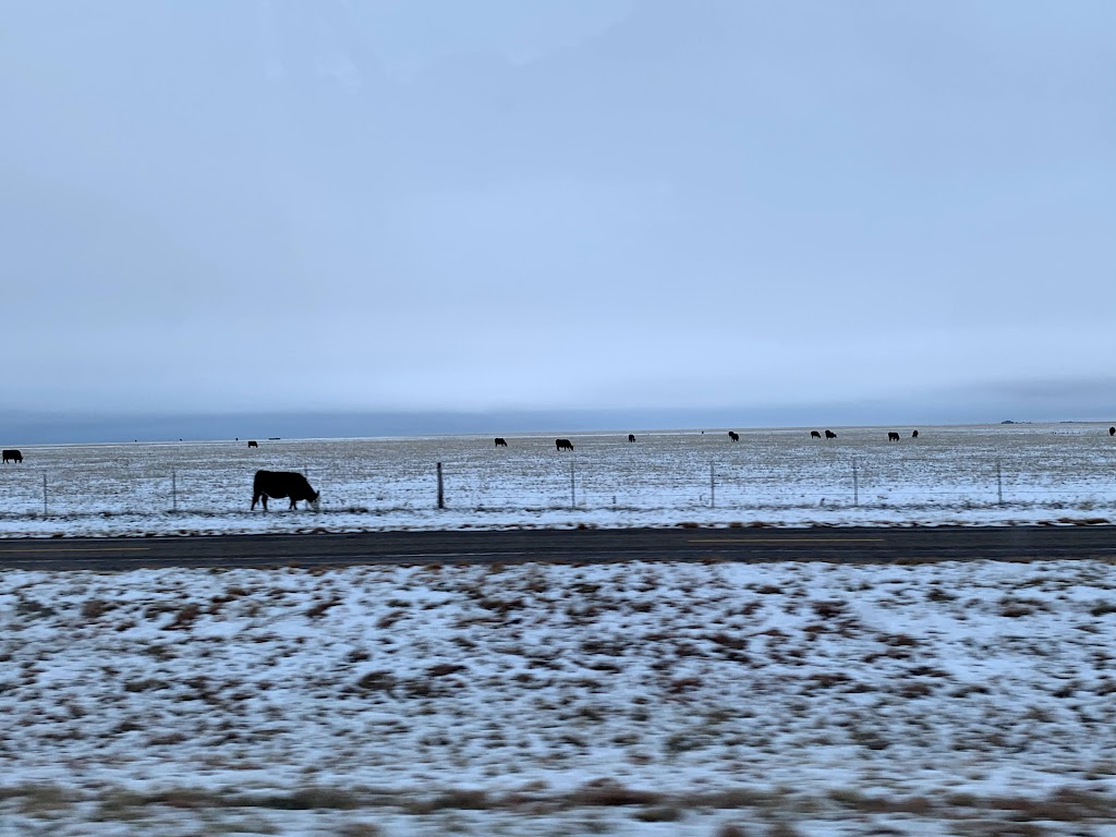
POLYGON ((0 834, 1116 835, 1110 564, 0 574, 0 834))

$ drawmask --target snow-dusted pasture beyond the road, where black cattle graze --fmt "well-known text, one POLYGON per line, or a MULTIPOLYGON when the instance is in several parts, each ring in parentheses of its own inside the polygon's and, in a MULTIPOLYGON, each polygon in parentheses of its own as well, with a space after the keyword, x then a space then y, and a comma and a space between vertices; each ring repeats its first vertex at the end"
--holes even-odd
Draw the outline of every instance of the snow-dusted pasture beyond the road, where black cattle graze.
POLYGON ((0 537, 530 526, 1013 523, 1116 519, 1101 424, 723 430, 22 446, 0 537), (445 509, 439 510, 436 465, 445 509), (305 472, 321 510, 251 512, 257 469, 305 472))

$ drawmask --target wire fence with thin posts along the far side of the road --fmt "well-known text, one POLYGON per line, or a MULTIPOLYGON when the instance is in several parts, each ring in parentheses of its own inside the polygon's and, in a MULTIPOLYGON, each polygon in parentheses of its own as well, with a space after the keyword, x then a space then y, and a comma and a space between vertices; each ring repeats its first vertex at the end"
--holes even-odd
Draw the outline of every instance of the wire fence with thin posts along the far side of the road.
MULTIPOLYGON (((210 516, 250 513, 251 469, 200 462, 87 463, 0 472, 0 516, 210 516)), ((323 513, 382 513, 437 507, 434 462, 312 461, 291 466, 321 492, 323 513)), ((1001 460, 970 461, 943 473, 924 461, 896 468, 853 458, 811 468, 710 460, 616 462, 568 456, 517 463, 456 461, 443 465, 444 504, 477 512, 546 509, 687 510, 795 508, 1116 507, 1112 471, 1036 473, 1001 460)), ((272 512, 287 508, 273 501, 272 512)), ((262 513, 259 507, 254 513, 262 513)))

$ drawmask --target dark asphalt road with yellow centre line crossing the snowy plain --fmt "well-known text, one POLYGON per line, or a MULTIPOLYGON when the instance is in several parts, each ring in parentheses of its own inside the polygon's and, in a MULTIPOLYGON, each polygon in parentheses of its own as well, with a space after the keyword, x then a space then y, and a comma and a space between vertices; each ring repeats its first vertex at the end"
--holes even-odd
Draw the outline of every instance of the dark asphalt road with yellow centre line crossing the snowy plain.
POLYGON ((1116 559, 1116 527, 530 529, 0 540, 0 568, 1116 559))

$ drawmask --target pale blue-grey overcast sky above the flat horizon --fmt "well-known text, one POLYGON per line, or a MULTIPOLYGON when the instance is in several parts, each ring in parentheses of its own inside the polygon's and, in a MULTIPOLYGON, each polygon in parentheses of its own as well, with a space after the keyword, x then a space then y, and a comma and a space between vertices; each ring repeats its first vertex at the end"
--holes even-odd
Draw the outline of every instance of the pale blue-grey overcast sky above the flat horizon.
POLYGON ((0 6, 0 436, 1116 420, 1110 0, 0 6))

